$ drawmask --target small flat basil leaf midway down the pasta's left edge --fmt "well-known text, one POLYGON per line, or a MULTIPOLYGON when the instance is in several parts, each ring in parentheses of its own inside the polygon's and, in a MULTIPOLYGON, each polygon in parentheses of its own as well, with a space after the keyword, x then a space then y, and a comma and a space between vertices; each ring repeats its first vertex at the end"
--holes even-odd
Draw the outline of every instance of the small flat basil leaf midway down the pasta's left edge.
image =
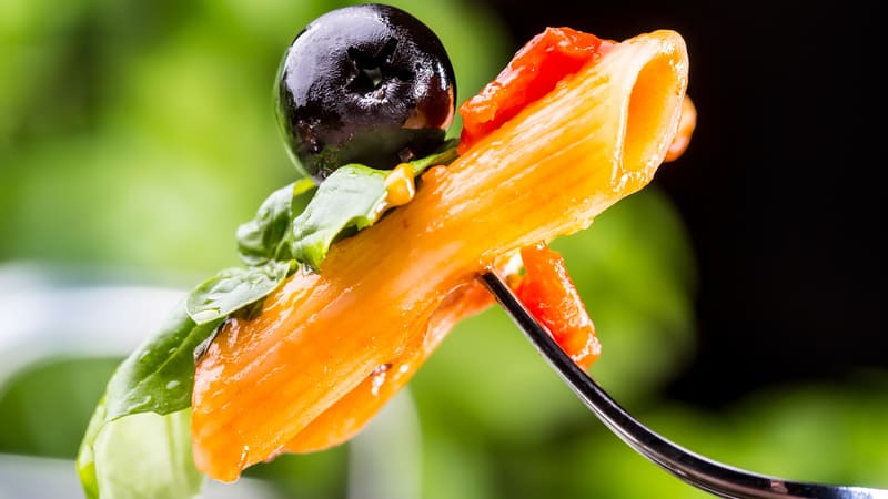
POLYGON ((293 269, 292 261, 270 261, 259 267, 226 268, 204 281, 188 297, 188 313, 198 324, 226 317, 264 298, 293 269))

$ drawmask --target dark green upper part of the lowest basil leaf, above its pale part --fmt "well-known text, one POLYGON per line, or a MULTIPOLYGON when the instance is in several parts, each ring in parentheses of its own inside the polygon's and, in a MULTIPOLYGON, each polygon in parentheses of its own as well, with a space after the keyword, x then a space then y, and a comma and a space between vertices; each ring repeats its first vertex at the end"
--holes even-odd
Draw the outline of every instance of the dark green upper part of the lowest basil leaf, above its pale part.
POLYGON ((153 411, 160 415, 191 407, 194 349, 222 318, 196 324, 183 301, 158 333, 117 368, 108 381, 105 420, 153 411))

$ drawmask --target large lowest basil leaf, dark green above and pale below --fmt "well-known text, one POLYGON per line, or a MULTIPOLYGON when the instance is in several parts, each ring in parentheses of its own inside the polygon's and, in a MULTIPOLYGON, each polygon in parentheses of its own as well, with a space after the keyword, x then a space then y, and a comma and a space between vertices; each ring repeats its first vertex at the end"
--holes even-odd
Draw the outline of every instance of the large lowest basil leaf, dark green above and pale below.
POLYGON ((194 350, 222 317, 196 324, 185 304, 108 383, 78 454, 78 473, 90 499, 193 497, 200 491, 190 427, 194 350))

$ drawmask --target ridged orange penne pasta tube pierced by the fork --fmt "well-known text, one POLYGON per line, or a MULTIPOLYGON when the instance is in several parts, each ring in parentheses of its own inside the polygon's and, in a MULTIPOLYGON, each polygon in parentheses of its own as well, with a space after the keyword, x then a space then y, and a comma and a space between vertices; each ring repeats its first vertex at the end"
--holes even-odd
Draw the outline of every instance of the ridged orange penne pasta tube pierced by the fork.
POLYGON ((320 273, 296 272, 258 315, 229 319, 196 365, 198 468, 233 481, 278 452, 360 430, 453 323, 490 303, 473 294, 475 276, 586 228, 653 179, 678 130, 687 71, 676 32, 614 44, 427 171, 412 202, 337 242, 320 273))

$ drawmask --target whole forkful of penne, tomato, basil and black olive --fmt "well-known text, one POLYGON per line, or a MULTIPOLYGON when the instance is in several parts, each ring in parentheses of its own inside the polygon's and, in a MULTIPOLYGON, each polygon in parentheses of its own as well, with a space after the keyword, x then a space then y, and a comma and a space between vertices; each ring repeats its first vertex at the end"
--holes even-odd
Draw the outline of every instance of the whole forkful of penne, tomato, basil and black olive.
POLYGON ((143 413, 190 416, 196 469, 221 481, 346 441, 453 325, 493 304, 476 278, 487 269, 587 367, 595 329, 546 244, 680 154, 687 71, 674 31, 616 42, 549 28, 461 106, 457 144, 444 140, 453 69, 422 22, 362 4, 310 23, 278 82, 307 176, 239 228, 246 268, 198 286, 109 381, 79 457, 88 496, 117 486, 115 425, 143 413))

